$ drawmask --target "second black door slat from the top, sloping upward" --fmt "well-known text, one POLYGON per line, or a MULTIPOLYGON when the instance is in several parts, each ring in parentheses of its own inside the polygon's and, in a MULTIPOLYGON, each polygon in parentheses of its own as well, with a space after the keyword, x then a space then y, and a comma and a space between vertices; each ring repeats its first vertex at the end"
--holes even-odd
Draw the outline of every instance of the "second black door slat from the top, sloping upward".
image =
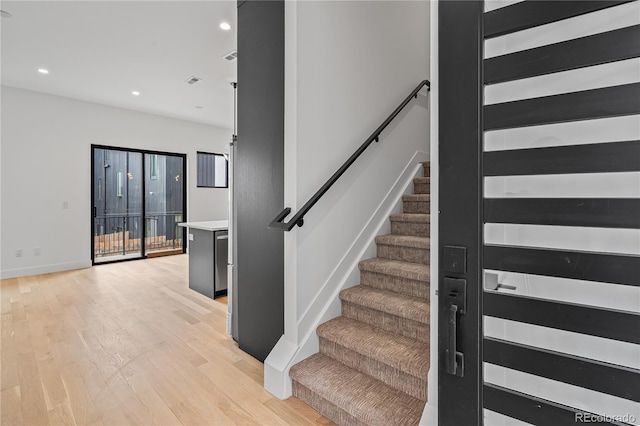
POLYGON ((640 56, 640 25, 484 61, 485 84, 502 83, 640 56))

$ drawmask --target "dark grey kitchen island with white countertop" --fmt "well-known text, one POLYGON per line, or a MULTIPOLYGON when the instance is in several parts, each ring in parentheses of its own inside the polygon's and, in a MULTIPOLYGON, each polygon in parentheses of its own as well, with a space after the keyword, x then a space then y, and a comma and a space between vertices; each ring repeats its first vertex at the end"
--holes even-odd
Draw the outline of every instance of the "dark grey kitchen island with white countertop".
POLYGON ((227 294, 229 221, 184 222, 189 241, 189 288, 215 299, 227 294))

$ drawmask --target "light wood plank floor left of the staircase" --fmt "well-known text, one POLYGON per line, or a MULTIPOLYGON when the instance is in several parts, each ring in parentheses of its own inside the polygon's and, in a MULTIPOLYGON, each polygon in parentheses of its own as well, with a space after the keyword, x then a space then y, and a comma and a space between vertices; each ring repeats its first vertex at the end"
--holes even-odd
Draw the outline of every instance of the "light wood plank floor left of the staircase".
POLYGON ((187 255, 2 281, 2 425, 332 424, 262 387, 187 255))

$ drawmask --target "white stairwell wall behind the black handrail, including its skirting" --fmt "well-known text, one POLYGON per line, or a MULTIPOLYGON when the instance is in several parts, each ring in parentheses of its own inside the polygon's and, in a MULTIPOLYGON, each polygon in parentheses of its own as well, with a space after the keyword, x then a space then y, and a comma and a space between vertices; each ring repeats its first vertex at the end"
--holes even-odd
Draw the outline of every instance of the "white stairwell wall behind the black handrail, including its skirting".
MULTIPOLYGON (((295 213, 418 83, 429 76, 429 2, 305 1, 285 6, 285 204, 295 213)), ((285 235, 285 335, 265 386, 317 352, 315 327, 339 315, 377 232, 429 152, 429 97, 414 100, 285 235), (414 169, 415 167, 415 169, 414 169)), ((386 228, 385 228, 386 227, 386 228)))

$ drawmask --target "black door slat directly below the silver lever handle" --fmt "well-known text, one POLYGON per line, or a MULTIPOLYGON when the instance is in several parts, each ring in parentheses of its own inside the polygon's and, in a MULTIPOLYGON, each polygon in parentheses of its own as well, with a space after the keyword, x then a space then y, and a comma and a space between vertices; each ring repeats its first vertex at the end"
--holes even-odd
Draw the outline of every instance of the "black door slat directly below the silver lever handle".
POLYGON ((640 344, 640 314, 485 292, 484 315, 640 344))

